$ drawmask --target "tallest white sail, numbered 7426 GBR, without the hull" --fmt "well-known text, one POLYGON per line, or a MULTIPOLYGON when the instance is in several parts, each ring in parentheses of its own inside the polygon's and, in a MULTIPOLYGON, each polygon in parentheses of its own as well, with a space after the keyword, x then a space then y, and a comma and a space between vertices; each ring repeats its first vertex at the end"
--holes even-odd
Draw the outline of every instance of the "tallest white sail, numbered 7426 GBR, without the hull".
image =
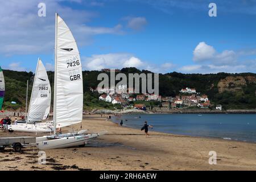
POLYGON ((82 66, 76 40, 64 20, 56 15, 55 98, 53 122, 56 127, 82 121, 82 66))

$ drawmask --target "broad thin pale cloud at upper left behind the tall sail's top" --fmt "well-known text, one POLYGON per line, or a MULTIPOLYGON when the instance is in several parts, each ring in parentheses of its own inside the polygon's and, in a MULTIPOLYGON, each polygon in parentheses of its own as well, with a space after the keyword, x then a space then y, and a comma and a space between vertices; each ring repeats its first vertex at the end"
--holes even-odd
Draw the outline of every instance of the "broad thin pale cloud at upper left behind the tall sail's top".
MULTIPOLYGON (((122 34, 122 26, 92 27, 88 23, 98 16, 89 10, 72 9, 61 4, 63 0, 44 0, 46 17, 38 16, 41 0, 2 1, 0 6, 0 53, 4 55, 52 53, 55 36, 55 12, 71 28, 77 43, 92 43, 92 35, 122 34)), ((65 0, 82 3, 80 0, 65 0)))

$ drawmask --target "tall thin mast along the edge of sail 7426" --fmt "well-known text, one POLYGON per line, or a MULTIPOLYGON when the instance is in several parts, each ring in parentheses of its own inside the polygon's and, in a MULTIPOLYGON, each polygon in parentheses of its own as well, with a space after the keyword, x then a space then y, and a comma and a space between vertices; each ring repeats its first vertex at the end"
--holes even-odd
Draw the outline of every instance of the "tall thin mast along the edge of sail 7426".
POLYGON ((53 93, 53 134, 56 134, 56 88, 57 88, 57 16, 55 13, 55 69, 54 69, 54 93, 53 93))

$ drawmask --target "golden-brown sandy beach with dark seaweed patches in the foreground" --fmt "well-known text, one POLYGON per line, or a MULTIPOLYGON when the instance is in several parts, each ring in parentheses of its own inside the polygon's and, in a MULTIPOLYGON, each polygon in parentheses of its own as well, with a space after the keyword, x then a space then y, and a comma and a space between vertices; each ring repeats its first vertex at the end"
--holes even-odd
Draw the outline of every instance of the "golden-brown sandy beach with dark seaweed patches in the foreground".
MULTIPOLYGON (((80 124, 73 129, 80 130, 80 124)), ((255 143, 151 130, 146 138, 143 131, 118 126, 101 115, 86 115, 82 129, 108 133, 85 147, 45 151, 45 165, 38 164, 36 148, 26 148, 21 154, 6 148, 0 152, 0 170, 256 170, 255 143), (209 151, 217 152, 216 165, 208 163, 209 151)), ((0 132, 0 137, 18 136, 35 134, 0 132)))

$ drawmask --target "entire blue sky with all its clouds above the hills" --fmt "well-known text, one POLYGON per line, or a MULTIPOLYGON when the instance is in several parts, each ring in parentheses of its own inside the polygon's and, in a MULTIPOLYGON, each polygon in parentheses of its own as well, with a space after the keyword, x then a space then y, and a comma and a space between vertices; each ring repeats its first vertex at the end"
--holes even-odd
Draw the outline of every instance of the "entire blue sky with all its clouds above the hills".
POLYGON ((0 7, 0 64, 53 69, 55 12, 71 28, 84 70, 256 73, 256 1, 13 0, 0 7), (38 16, 38 3, 46 17, 38 16), (210 17, 210 2, 217 16, 210 17))

